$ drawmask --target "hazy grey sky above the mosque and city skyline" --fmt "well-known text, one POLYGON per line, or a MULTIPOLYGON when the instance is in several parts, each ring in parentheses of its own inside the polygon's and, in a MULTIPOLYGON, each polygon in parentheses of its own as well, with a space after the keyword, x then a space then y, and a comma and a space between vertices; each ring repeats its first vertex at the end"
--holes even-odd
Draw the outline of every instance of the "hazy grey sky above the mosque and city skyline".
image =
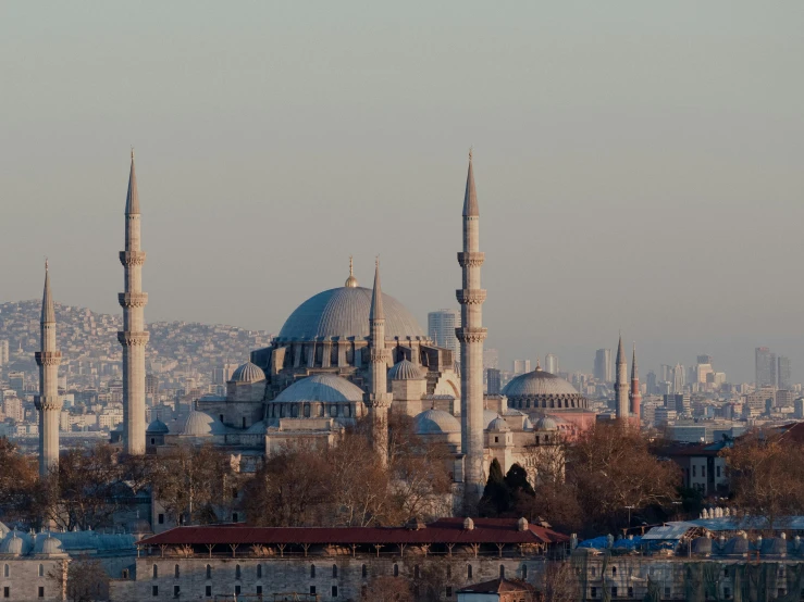
MULTIPOLYGON (((348 256, 457 306, 474 146, 488 347, 753 348, 804 378, 804 2, 2 2, 0 301, 279 330, 348 256)), ((244 350, 244 356, 247 350, 244 350)))

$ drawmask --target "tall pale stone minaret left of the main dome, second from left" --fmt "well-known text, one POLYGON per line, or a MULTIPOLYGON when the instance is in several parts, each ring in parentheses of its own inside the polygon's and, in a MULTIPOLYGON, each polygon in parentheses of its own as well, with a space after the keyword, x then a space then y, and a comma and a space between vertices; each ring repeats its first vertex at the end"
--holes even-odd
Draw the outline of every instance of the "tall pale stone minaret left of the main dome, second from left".
POLYGON ((123 308, 123 330, 117 340, 123 346, 123 450, 129 454, 145 453, 145 331, 143 310, 148 293, 143 292, 145 251, 139 248, 139 196, 137 176, 128 175, 128 195, 125 200, 125 251, 120 253, 125 273, 125 292, 117 294, 123 308))

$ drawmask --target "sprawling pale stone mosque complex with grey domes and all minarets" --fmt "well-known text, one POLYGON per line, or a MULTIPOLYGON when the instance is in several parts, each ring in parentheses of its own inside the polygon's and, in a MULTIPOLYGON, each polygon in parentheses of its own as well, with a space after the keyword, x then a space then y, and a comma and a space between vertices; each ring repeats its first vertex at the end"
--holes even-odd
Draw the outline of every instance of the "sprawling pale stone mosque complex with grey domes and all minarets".
MULTIPOLYGON (((124 422, 116 434, 127 453, 163 453, 181 443, 212 442, 242 459, 260 457, 288 443, 332 444, 339 432, 366 417, 371 421, 378 459, 385 462, 392 412, 411 417, 420 436, 449 446, 456 489, 465 499, 477 501, 493 459, 504 471, 514 463, 532 465, 534 449, 571 438, 595 419, 583 396, 539 365, 511 380, 502 396, 484 394, 482 306, 486 291, 480 288, 484 253, 480 251, 480 210, 470 153, 461 215, 463 249, 458 253, 462 288, 456 291, 461 305, 462 326, 456 330, 460 358, 437 347, 405 305, 383 292, 379 262, 371 288, 360 286, 350 262, 342 287, 304 301, 269 347, 250 352, 250 361, 232 374, 225 397, 201 397, 181 423, 166 425, 156 419, 146 427, 148 333, 143 312, 148 296, 141 290, 146 253, 140 248, 139 211, 132 153, 125 250, 120 253, 125 272, 125 291, 119 296, 124 314, 124 330, 119 333, 124 422)), ((61 354, 52 303, 46 275, 42 352, 37 353, 42 474, 58 464, 59 449, 58 419, 51 414, 60 404, 54 403, 51 389, 61 354)), ((620 341, 618 416, 629 411, 628 400, 623 401, 628 393, 623 358, 620 341)), ((634 361, 632 378, 635 367, 634 361)))

